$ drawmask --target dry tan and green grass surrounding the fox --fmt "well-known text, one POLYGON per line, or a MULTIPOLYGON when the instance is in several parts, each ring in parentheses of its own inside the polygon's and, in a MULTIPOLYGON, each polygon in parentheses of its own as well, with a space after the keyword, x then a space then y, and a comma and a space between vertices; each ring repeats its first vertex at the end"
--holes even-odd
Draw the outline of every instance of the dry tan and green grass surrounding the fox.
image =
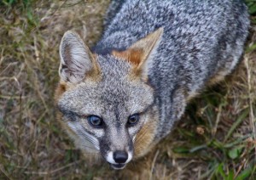
POLYGON ((58 46, 79 31, 91 46, 109 1, 0 3, 0 179, 255 179, 256 3, 241 64, 195 98, 172 134, 114 172, 86 162, 55 121, 58 46))

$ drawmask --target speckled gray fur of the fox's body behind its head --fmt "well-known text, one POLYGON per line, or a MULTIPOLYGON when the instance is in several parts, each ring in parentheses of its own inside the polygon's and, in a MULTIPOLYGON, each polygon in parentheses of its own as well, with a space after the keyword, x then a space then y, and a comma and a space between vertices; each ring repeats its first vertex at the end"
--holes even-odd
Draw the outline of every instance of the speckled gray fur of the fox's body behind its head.
POLYGON ((239 0, 131 0, 123 4, 96 45, 126 49, 164 27, 149 82, 160 110, 157 139, 183 114, 186 99, 218 73, 233 70, 248 34, 247 7, 239 0), (181 90, 182 89, 182 90, 181 90))

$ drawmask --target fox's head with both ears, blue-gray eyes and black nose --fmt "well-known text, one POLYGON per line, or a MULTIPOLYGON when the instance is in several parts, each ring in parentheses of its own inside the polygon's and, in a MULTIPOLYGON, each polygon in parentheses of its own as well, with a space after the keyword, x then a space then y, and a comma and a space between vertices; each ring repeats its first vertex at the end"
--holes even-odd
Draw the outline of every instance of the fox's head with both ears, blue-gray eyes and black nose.
POLYGON ((148 70, 162 31, 107 55, 90 52, 73 31, 62 37, 58 119, 80 149, 102 155, 114 169, 143 155, 153 142, 154 90, 148 70))

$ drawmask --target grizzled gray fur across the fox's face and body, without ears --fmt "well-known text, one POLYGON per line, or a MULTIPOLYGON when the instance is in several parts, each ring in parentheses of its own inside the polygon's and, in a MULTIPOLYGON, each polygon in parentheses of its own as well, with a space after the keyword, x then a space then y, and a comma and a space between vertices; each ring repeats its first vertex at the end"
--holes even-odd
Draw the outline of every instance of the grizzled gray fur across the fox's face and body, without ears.
POLYGON ((132 139, 147 121, 148 112, 157 115, 153 143, 166 137, 183 115, 188 99, 212 78, 235 68, 249 26, 247 7, 239 0, 114 1, 107 17, 102 39, 93 48, 101 81, 91 82, 85 76, 84 82, 58 102, 64 114, 73 111, 103 117, 104 130, 95 130, 79 119, 98 139, 103 157, 109 149, 128 147, 132 152, 132 139), (132 81, 130 63, 110 53, 131 47, 160 27, 164 32, 150 58, 148 82, 132 81), (127 117, 139 112, 143 115, 137 127, 126 128, 127 117))

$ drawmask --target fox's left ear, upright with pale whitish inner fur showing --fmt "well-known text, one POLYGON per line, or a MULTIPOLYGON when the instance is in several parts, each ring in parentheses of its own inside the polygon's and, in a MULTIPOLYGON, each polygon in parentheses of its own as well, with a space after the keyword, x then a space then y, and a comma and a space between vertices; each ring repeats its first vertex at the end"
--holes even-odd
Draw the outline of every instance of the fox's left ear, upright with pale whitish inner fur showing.
POLYGON ((85 75, 98 71, 96 59, 79 34, 67 31, 61 39, 59 75, 64 82, 81 82, 85 75))

